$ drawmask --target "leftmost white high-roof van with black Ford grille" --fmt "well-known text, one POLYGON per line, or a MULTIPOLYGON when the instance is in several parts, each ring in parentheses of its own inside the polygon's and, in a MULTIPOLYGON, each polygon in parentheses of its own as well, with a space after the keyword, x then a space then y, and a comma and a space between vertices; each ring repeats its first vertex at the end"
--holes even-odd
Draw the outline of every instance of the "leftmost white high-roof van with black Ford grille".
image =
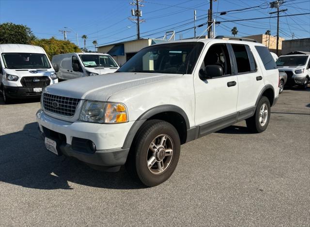
POLYGON ((8 103, 12 98, 40 97, 42 90, 58 79, 42 47, 1 44, 0 82, 4 102, 8 103))

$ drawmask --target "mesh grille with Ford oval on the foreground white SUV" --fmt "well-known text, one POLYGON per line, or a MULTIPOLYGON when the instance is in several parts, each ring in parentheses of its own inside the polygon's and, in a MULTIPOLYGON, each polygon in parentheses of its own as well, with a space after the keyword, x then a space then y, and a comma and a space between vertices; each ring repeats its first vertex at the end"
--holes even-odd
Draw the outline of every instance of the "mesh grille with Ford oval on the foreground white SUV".
POLYGON ((51 113, 72 117, 77 109, 79 99, 43 93, 43 107, 51 113))

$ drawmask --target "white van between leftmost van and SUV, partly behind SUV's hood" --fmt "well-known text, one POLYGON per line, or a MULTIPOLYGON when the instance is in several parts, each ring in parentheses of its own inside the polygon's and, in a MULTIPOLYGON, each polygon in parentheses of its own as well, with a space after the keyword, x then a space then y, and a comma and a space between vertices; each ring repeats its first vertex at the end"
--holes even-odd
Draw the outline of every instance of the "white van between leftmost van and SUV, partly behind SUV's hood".
POLYGON ((119 66, 109 54, 69 53, 55 55, 52 59, 58 78, 68 80, 84 76, 114 73, 119 66))

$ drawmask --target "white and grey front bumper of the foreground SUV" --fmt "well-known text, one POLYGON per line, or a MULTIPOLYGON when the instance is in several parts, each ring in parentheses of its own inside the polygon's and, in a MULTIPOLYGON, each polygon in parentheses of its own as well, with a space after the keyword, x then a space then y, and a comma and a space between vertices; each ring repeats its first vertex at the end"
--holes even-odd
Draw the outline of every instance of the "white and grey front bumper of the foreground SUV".
POLYGON ((122 166, 129 149, 122 149, 125 137, 133 122, 122 124, 97 124, 68 122, 52 118, 39 110, 36 114, 41 136, 57 141, 62 154, 75 157, 91 166, 122 166), (91 141, 96 151, 81 149, 75 141, 91 141))

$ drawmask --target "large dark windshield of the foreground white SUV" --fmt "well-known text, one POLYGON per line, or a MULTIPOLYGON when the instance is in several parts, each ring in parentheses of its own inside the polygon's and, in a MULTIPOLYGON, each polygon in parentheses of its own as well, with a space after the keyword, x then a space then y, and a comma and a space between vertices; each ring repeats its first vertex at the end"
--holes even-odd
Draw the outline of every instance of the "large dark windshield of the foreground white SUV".
POLYGON ((203 43, 167 43, 140 50, 117 72, 191 74, 203 43))

